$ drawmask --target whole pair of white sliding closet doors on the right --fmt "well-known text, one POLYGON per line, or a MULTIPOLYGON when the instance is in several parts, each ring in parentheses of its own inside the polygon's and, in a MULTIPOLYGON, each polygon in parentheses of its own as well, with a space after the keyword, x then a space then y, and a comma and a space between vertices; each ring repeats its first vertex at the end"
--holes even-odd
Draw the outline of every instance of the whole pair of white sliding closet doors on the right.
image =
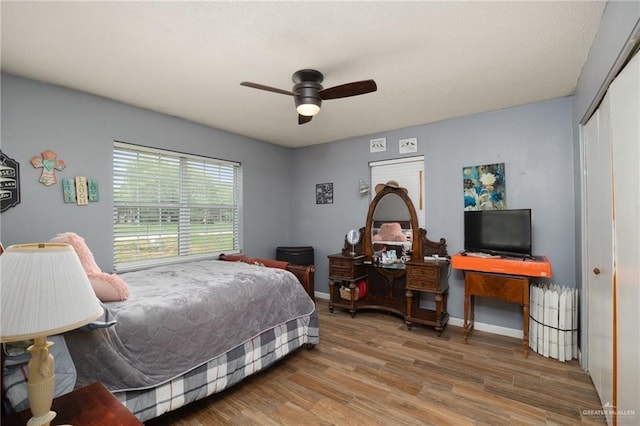
POLYGON ((584 127, 588 369, 617 424, 640 419, 640 56, 584 127))

